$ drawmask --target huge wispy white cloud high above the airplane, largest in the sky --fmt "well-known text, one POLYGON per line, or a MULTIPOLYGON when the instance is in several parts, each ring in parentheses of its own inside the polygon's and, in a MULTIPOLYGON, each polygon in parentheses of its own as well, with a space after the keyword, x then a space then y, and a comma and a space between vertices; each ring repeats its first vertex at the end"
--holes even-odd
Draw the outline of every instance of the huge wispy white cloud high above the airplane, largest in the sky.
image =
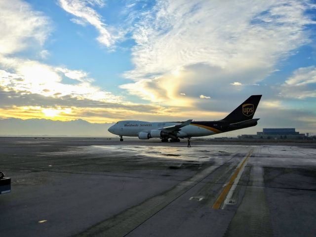
MULTIPOLYGON (((311 42, 305 25, 315 22, 305 11, 312 7, 285 0, 158 1, 138 15, 132 32, 135 68, 124 73, 133 82, 120 88, 170 105, 181 91, 190 91, 191 102, 197 103, 194 97, 200 93, 215 92, 212 98, 227 93, 226 83, 257 84, 280 60, 311 42), (172 86, 157 83, 161 80, 172 86)), ((230 95, 244 89, 236 86, 230 95)))

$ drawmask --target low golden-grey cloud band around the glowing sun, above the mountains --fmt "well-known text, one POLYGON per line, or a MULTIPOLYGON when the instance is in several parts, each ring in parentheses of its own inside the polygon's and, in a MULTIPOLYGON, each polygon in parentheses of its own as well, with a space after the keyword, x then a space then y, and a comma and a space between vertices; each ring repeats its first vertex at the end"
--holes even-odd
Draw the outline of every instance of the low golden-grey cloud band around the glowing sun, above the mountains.
MULTIPOLYGON (((50 90, 47 90, 48 93, 50 90)), ((26 92, 4 91, 0 87, 0 118, 49 118, 69 121, 83 118, 91 122, 114 122, 117 120, 150 118, 160 120, 168 115, 181 118, 175 108, 130 102, 96 101, 78 99, 70 95, 44 96, 26 92)))

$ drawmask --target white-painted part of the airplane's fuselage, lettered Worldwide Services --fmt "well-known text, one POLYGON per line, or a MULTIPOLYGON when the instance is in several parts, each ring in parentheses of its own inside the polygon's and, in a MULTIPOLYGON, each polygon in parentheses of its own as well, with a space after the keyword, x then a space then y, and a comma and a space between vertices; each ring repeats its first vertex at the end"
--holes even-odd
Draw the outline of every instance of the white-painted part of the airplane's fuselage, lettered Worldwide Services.
MULTIPOLYGON (((146 122, 137 120, 125 120, 117 122, 108 130, 109 132, 118 136, 138 137, 140 132, 150 132, 151 130, 156 130, 162 127, 174 126, 178 124, 181 124, 181 122, 146 122)), ((184 138, 201 137, 213 134, 216 133, 209 129, 189 124, 185 127, 182 127, 177 136, 179 138, 184 138)))

